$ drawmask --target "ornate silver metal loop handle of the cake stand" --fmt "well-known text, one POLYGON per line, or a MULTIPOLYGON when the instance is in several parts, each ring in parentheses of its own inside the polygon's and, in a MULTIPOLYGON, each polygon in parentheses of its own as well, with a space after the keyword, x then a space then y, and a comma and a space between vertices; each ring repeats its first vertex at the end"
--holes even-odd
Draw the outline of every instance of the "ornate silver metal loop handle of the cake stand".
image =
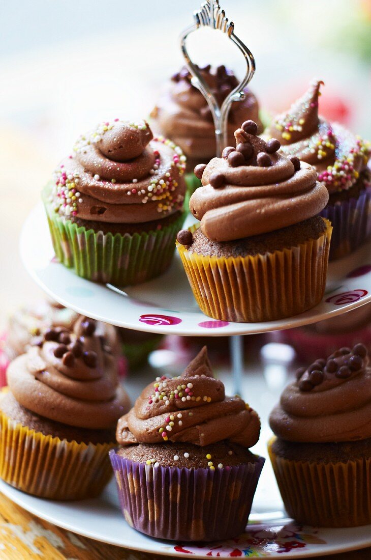
POLYGON ((210 107, 212 118, 215 126, 215 138, 216 138, 216 156, 220 157, 223 148, 227 145, 227 127, 228 127, 228 115, 231 107, 232 101, 241 101, 244 99, 244 88, 248 85, 251 78, 254 76, 255 72, 255 59, 253 54, 251 54, 248 47, 242 43, 242 41, 235 35, 234 29, 235 25, 232 21, 229 21, 225 15, 225 11, 221 10, 220 5, 217 0, 206 0, 203 2, 201 8, 193 13, 194 24, 183 31, 180 36, 180 45, 182 48, 182 53, 186 61, 186 66, 189 72, 192 74, 192 85, 197 87, 201 91, 202 95, 207 101, 210 107), (243 80, 235 87, 234 90, 230 92, 229 95, 219 106, 217 100, 212 95, 210 88, 208 87, 206 81, 203 80, 201 72, 198 71, 196 64, 194 64, 189 57, 187 51, 187 38, 188 36, 199 29, 199 27, 210 27, 210 29, 216 29, 225 33, 231 41, 240 49, 241 53, 244 55, 246 60, 246 74, 243 80))

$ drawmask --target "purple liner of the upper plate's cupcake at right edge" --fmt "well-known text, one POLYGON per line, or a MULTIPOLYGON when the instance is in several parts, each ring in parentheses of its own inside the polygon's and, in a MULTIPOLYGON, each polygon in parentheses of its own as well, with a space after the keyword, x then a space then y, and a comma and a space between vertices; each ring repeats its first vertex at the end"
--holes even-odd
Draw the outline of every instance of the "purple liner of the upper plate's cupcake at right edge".
POLYGON ((329 259, 348 255, 371 235, 371 186, 358 198, 327 204, 320 215, 332 224, 329 259))

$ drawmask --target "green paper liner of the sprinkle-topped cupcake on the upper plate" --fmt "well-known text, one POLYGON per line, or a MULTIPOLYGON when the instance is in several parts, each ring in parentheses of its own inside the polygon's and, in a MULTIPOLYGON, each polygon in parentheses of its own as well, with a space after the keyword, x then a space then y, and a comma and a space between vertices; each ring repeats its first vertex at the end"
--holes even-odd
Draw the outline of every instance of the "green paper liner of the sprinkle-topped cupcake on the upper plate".
POLYGON ((155 278, 169 268, 185 212, 164 227, 159 220, 160 228, 156 231, 103 234, 61 217, 47 202, 47 190, 43 198, 56 258, 65 267, 73 268, 78 276, 130 286, 155 278))

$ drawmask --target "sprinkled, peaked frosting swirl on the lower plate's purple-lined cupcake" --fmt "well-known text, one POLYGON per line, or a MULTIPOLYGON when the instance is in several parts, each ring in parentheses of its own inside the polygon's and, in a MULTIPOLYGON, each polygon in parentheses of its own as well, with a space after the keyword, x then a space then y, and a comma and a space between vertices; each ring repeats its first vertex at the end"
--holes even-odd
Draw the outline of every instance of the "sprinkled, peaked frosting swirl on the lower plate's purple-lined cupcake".
POLYGON ((142 391, 118 421, 116 437, 121 445, 182 441, 204 446, 230 440, 251 447, 259 433, 258 414, 238 396, 225 396, 203 347, 182 375, 158 377, 142 391))

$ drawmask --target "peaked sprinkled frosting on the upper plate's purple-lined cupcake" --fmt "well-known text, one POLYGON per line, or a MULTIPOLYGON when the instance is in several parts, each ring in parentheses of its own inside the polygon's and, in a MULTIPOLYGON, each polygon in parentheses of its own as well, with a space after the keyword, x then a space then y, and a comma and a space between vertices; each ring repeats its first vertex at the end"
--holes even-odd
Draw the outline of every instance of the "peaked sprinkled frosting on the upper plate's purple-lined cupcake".
POLYGON ((287 113, 273 119, 268 134, 276 136, 281 152, 315 167, 329 193, 349 189, 366 169, 370 144, 337 123, 318 116, 321 80, 315 80, 287 113))

